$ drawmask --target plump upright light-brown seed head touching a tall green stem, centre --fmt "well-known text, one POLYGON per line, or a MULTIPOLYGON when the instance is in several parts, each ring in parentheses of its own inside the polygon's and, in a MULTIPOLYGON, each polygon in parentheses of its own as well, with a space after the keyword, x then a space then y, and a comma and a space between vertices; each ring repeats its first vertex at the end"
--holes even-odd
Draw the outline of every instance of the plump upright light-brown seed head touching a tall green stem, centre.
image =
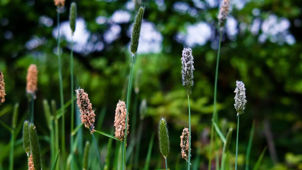
MULTIPOLYGON (((126 104, 125 102, 119 100, 116 109, 115 109, 115 118, 114 118, 114 126, 115 126, 115 137, 117 139, 123 140, 125 138, 125 129, 126 129, 126 104)), ((129 116, 127 116, 127 129, 129 129, 129 116)), ((129 134, 129 131, 127 131, 129 134)))

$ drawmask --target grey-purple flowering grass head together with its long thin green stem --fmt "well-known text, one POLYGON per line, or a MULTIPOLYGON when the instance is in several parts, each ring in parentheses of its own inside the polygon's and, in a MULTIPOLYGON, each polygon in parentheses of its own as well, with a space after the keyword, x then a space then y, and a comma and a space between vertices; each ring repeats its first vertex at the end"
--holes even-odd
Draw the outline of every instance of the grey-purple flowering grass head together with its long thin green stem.
POLYGON ((192 49, 191 48, 184 48, 182 51, 182 85, 186 89, 186 93, 188 96, 188 106, 189 106, 189 149, 188 149, 188 169, 190 170, 191 165, 191 109, 190 109, 190 95, 192 94, 192 87, 194 85, 194 76, 193 71, 194 69, 194 61, 193 61, 192 49))

